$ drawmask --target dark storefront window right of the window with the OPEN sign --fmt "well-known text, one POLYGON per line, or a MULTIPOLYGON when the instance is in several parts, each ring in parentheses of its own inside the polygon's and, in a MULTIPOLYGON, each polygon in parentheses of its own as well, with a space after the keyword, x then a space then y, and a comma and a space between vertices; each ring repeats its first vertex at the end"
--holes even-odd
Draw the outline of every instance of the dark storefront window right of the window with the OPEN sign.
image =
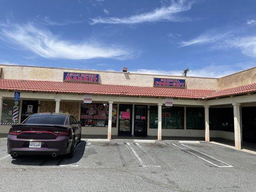
POLYGON ((205 129, 205 109, 186 108, 187 129, 205 129))

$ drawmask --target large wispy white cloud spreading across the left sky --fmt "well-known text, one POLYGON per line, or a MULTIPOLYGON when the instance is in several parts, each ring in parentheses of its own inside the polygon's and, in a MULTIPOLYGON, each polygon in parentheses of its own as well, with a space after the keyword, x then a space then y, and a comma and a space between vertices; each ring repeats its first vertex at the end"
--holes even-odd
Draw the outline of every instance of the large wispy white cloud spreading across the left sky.
POLYGON ((2 27, 0 38, 6 43, 19 45, 44 58, 86 60, 113 58, 124 60, 132 53, 117 46, 103 46, 97 42, 79 42, 61 39, 45 29, 32 24, 2 27))

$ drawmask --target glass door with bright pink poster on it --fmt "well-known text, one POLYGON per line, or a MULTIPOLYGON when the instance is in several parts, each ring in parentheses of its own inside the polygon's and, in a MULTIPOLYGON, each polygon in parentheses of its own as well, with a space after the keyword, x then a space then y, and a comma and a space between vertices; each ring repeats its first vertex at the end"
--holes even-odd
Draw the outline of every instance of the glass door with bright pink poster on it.
POLYGON ((119 105, 118 135, 132 135, 133 105, 119 105))

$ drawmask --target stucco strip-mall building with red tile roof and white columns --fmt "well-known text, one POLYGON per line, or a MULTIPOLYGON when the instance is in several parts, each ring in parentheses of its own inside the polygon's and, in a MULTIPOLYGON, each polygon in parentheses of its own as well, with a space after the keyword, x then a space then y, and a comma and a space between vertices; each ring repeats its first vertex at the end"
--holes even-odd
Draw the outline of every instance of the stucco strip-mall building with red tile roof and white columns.
POLYGON ((83 134, 109 139, 219 137, 233 140, 237 149, 242 141, 256 143, 256 68, 221 78, 12 65, 0 69, 0 133, 33 113, 62 112, 80 120, 83 134))

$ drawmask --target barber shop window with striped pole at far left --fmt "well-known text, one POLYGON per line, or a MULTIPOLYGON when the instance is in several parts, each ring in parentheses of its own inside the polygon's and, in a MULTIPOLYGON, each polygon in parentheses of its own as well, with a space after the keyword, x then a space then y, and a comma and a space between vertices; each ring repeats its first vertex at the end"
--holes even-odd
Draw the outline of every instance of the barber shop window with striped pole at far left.
POLYGON ((19 120, 20 102, 14 100, 3 100, 2 105, 2 125, 17 124, 19 120))

